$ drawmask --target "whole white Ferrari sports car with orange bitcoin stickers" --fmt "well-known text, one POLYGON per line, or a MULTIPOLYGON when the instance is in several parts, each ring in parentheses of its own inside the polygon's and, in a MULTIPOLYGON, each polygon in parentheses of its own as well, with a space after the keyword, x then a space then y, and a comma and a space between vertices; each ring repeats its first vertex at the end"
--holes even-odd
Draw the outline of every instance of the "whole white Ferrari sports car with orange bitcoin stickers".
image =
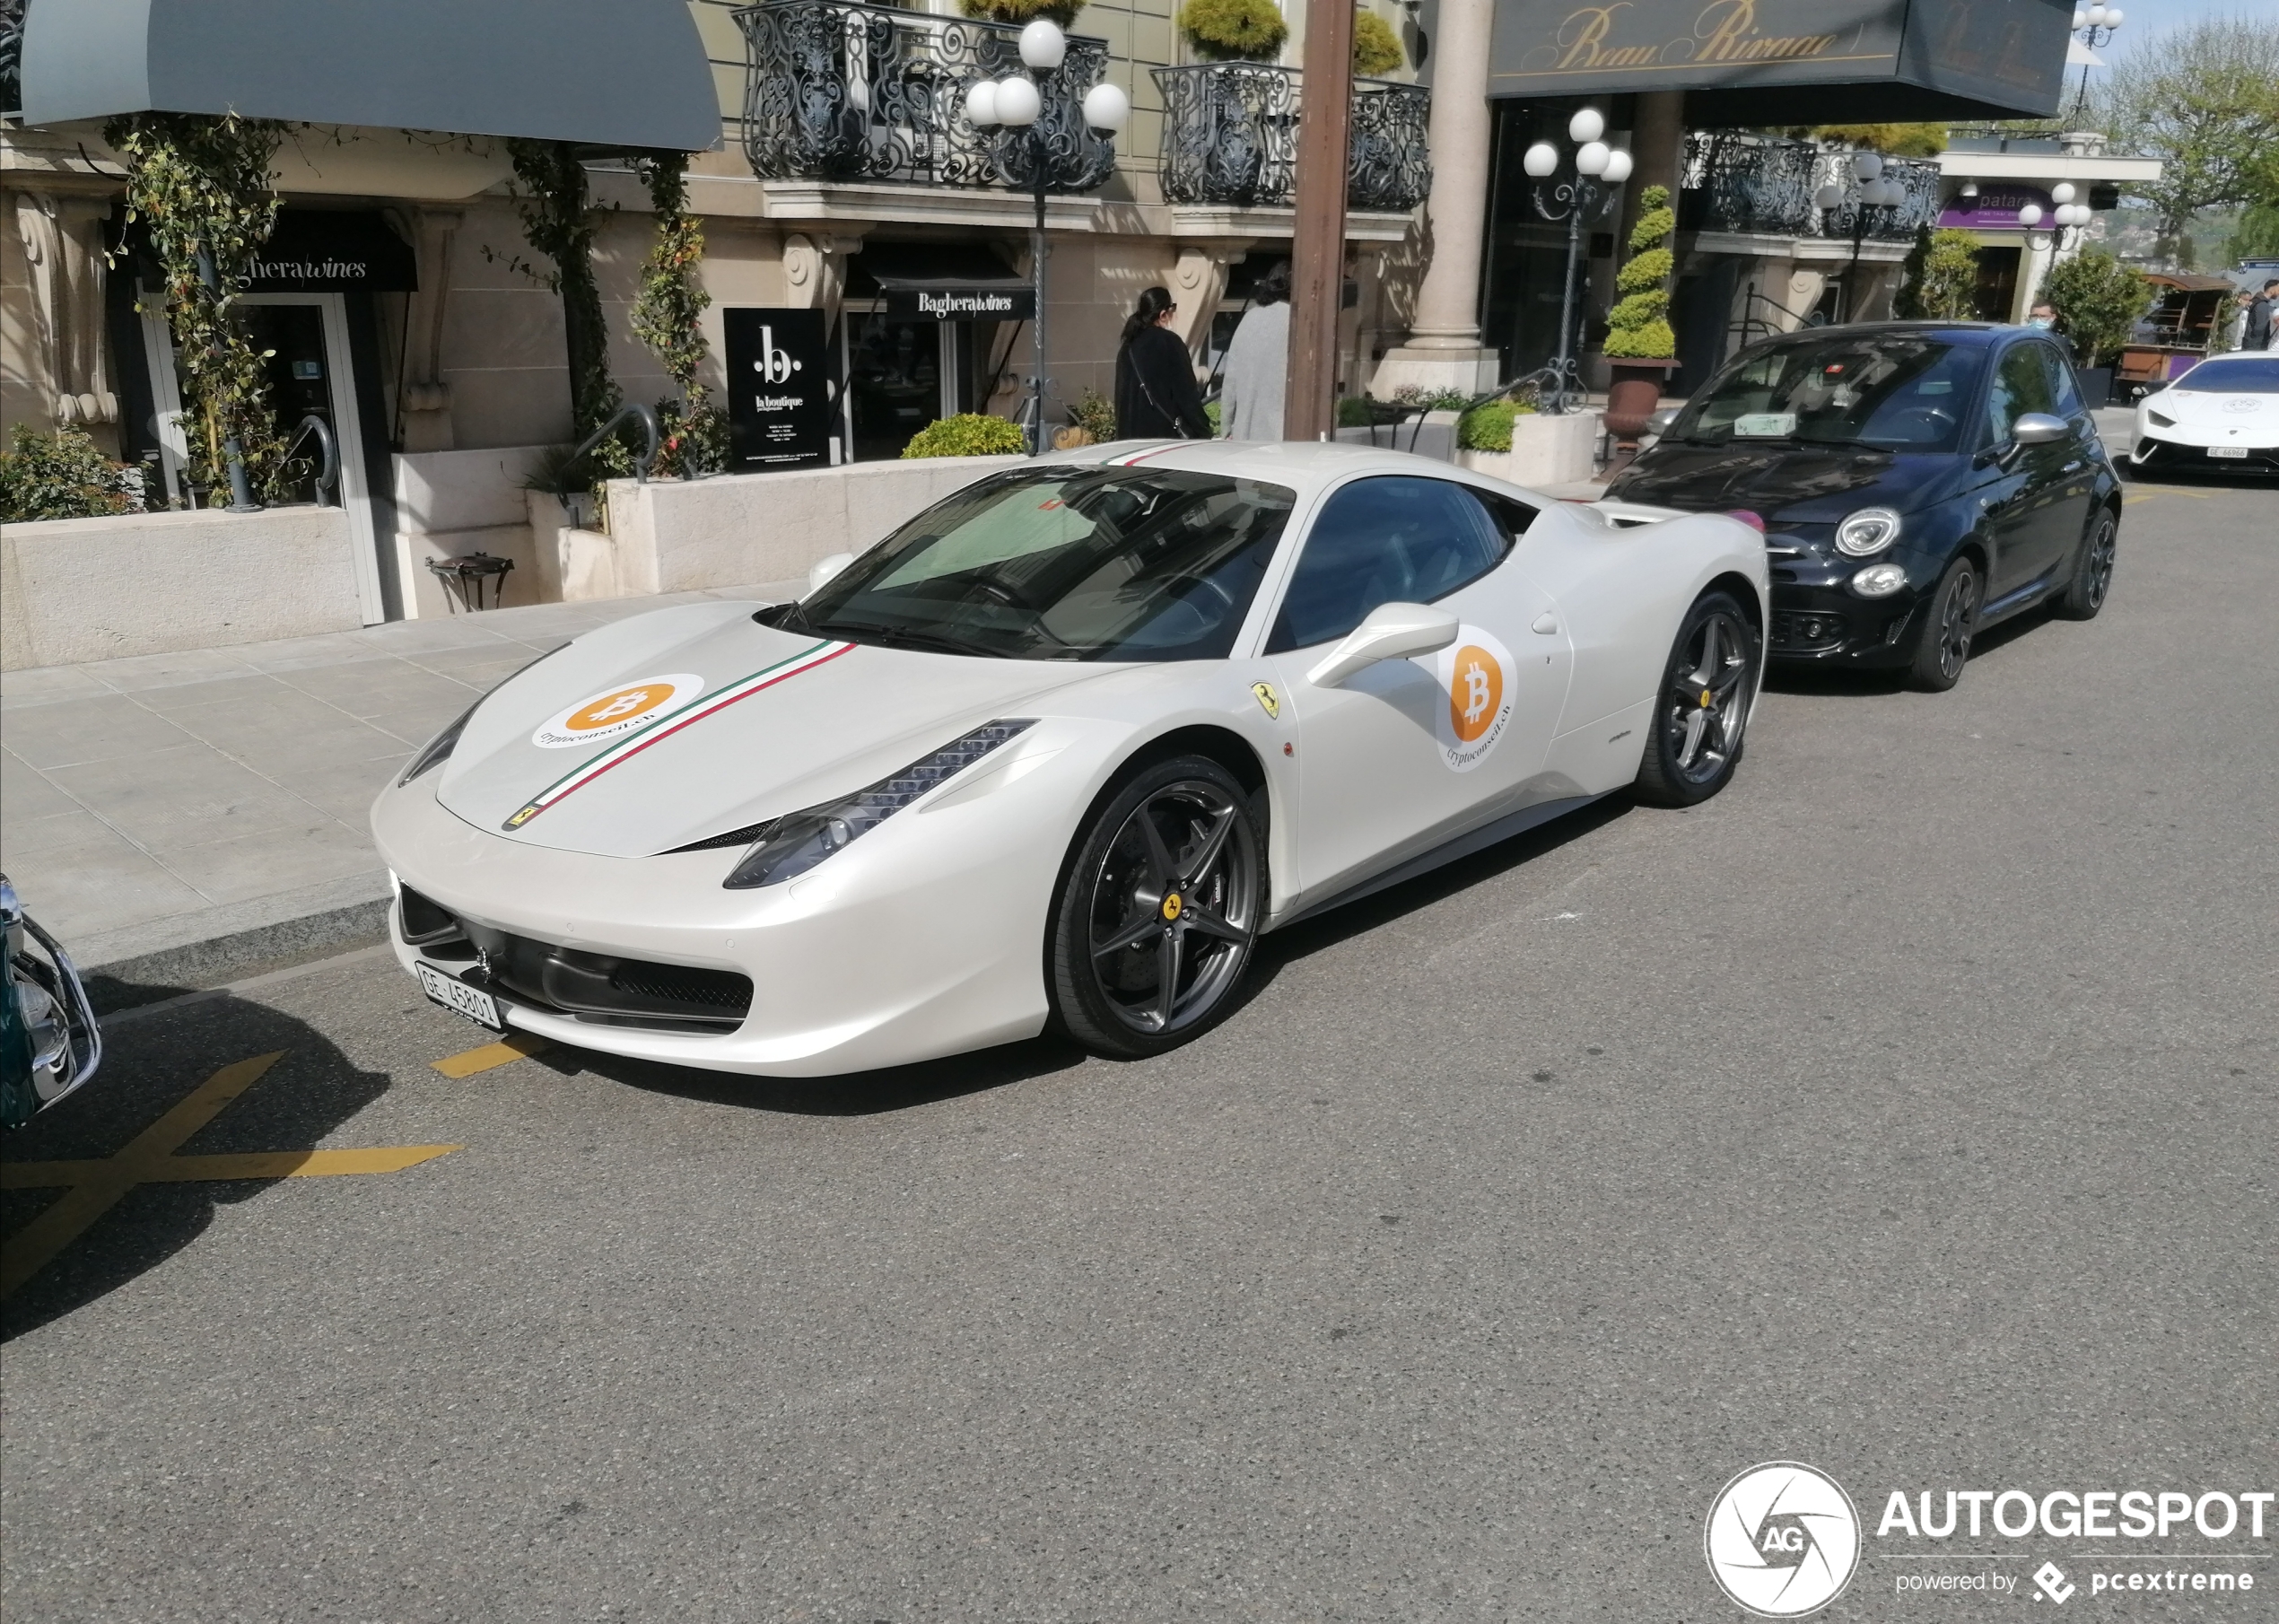
POLYGON ((718 1071, 1046 1025, 1153 1055, 1263 932, 1600 795, 1714 795, 1764 624, 1723 515, 1363 446, 1055 453, 793 604, 499 683, 374 804, 397 957, 490 1027, 718 1071))

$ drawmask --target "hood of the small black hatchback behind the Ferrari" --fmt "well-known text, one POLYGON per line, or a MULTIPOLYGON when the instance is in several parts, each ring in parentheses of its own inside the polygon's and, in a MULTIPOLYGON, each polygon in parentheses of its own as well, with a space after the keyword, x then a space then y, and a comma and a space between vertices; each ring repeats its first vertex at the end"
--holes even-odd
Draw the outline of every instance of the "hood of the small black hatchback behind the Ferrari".
POLYGON ((1955 456, 1796 446, 1787 442, 1693 446, 1664 442, 1607 487, 1611 501, 1766 519, 1832 524, 1857 508, 1908 512, 1939 499, 1955 456))

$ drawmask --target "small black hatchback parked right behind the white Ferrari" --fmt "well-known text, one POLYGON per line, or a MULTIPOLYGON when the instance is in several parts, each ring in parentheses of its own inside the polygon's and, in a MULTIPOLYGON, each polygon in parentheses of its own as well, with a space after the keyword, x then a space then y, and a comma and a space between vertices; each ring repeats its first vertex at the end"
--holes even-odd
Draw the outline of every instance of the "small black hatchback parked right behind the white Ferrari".
POLYGON ((1769 658, 1953 688, 1971 638, 2104 608, 2119 476, 2044 333, 1885 321, 1741 351, 1607 487, 1645 510, 1762 517, 1769 658))

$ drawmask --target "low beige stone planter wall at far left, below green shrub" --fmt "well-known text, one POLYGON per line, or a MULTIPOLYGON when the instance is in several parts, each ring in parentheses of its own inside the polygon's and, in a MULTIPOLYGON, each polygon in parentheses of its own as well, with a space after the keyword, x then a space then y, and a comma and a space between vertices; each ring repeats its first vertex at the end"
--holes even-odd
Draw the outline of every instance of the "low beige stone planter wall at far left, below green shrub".
POLYGON ((128 512, 0 531, 0 665, 11 672, 362 624, 344 508, 128 512))

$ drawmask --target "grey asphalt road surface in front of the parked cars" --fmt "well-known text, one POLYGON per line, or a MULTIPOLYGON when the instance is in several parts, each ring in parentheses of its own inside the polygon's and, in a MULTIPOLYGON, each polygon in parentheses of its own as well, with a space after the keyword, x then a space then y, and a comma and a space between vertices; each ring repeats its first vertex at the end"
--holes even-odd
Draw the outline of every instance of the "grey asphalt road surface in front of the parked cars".
POLYGON ((2279 1515, 1876 1524, 2279 1490, 2272 499, 2133 487, 2101 620, 1778 686, 1721 799, 1274 938, 1151 1064, 454 1080, 374 957, 121 1020, 9 1162, 273 1050, 180 1155, 458 1148, 139 1184, 9 1298, 7 1615, 1727 1619, 1712 1496, 1803 1460, 1830 1619, 2270 1617, 2279 1515))

